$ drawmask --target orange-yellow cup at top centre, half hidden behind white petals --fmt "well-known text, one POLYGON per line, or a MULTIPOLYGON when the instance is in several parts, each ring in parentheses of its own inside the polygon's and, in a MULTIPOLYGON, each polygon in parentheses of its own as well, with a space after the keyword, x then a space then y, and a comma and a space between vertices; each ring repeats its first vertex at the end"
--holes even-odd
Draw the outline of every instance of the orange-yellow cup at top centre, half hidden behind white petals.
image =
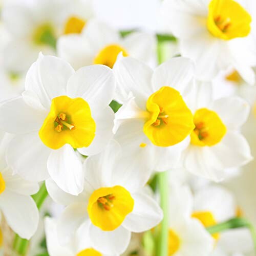
POLYGON ((123 56, 128 56, 128 53, 119 45, 109 45, 101 49, 97 56, 94 58, 94 64, 101 64, 113 68, 118 54, 122 52, 123 56))

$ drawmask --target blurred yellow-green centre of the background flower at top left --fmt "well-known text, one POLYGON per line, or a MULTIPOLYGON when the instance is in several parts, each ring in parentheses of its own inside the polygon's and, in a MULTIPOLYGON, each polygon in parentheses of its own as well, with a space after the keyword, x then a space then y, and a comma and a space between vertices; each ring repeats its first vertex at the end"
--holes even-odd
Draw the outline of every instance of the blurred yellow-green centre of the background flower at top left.
POLYGON ((55 48, 56 37, 54 28, 50 24, 37 27, 33 34, 33 41, 36 45, 48 45, 55 48))

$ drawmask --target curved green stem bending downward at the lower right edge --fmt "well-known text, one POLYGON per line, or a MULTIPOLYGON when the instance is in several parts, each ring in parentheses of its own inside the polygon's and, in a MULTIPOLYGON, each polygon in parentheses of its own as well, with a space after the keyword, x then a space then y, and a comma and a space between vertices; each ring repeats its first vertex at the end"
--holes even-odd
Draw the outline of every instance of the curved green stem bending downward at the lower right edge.
POLYGON ((207 227, 206 229, 210 234, 215 234, 228 229, 241 228, 241 227, 246 227, 250 230, 253 244, 254 244, 254 250, 256 252, 256 232, 254 230, 253 225, 244 218, 233 218, 228 221, 219 223, 217 225, 207 227))

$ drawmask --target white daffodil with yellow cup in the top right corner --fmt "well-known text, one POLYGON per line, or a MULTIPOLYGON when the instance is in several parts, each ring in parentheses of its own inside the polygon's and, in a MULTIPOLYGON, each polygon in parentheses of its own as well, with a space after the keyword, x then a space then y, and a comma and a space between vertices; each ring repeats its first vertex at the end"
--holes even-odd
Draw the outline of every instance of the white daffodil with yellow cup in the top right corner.
POLYGON ((254 83, 253 2, 165 0, 161 18, 179 39, 181 55, 196 62, 200 79, 209 80, 232 66, 244 80, 254 83))

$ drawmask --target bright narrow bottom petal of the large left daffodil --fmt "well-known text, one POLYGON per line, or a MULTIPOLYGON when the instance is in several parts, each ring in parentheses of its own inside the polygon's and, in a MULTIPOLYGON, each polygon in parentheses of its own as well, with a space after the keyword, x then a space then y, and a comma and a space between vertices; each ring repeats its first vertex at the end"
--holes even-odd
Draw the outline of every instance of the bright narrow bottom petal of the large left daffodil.
POLYGON ((77 196, 83 189, 82 163, 73 147, 66 144, 51 152, 47 161, 51 178, 66 193, 77 196))

